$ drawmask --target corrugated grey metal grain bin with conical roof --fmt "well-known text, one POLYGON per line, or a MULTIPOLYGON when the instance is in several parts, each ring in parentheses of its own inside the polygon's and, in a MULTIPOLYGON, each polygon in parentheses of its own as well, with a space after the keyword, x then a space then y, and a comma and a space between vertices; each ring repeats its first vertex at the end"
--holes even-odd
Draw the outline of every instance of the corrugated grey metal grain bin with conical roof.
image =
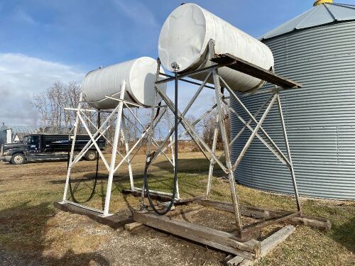
MULTIPOLYGON (((319 4, 261 40, 273 52, 276 72, 303 84, 281 93, 300 194, 355 199, 355 6, 319 4)), ((243 98, 254 112, 265 99, 243 98)), ((243 113, 235 101, 231 104, 243 113)), ((263 128, 285 152, 276 110, 271 109, 263 128)), ((232 116, 231 138, 241 127, 232 116)), ((244 131, 232 147, 234 160, 249 135, 244 131)), ((293 194, 288 168, 257 139, 235 177, 249 187, 293 194)))

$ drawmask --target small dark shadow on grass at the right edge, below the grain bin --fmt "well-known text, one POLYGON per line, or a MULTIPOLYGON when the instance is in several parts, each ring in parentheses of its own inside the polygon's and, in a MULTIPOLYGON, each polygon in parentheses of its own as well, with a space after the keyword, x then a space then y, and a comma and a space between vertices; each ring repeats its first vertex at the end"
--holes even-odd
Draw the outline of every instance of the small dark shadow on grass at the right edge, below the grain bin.
POLYGON ((341 226, 333 226, 332 238, 344 245, 352 253, 355 253, 355 214, 351 220, 341 226))

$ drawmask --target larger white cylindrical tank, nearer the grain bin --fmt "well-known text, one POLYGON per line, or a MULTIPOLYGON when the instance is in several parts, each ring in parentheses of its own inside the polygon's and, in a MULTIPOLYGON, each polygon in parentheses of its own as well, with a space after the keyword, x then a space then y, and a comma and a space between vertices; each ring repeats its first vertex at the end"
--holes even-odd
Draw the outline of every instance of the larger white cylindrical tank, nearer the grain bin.
MULTIPOLYGON (((180 73, 212 65, 203 62, 210 39, 215 41, 216 54, 229 53, 263 69, 273 69, 273 53, 268 46, 196 4, 179 6, 165 20, 158 43, 162 65, 173 72, 171 64, 177 62, 180 73)), ((195 78, 203 80, 205 75, 195 78)), ((231 89, 240 92, 265 83, 227 67, 219 68, 219 75, 231 89)))

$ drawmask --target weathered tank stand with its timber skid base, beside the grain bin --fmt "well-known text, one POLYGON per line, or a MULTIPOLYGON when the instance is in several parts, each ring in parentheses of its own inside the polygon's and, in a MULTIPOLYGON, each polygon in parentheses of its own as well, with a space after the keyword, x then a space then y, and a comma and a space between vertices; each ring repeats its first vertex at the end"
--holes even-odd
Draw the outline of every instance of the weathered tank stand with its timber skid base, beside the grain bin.
MULTIPOLYGON (((288 229, 281 229, 283 231, 278 231, 275 234, 271 235, 271 238, 267 238, 266 241, 258 240, 258 237, 261 235, 261 231, 263 228, 267 226, 271 226, 275 223, 288 223, 288 224, 304 224, 307 226, 315 226, 317 228, 323 228, 328 230, 330 227, 330 223, 327 219, 324 218, 316 218, 310 216, 302 215, 302 209, 300 204, 300 197, 297 191, 297 182, 295 179, 295 172, 293 169, 293 162, 290 154, 290 148, 288 144, 288 136, 285 129, 285 121, 283 118, 283 111, 280 101, 279 92, 281 90, 287 89, 297 89, 301 87, 301 84, 294 82, 293 80, 287 79, 285 77, 281 77, 274 72, 264 70, 261 67, 251 64, 250 62, 246 62, 241 60, 240 58, 234 57, 233 55, 224 54, 217 55, 214 52, 214 41, 209 41, 209 48, 207 52, 207 58, 205 62, 210 62, 208 67, 204 67, 203 69, 198 69, 190 72, 186 72, 184 74, 176 74, 175 77, 165 74, 168 78, 159 80, 155 82, 156 93, 163 99, 168 108, 175 112, 175 105, 173 101, 169 99, 169 97, 160 89, 159 84, 163 84, 166 82, 175 81, 175 88, 178 86, 178 81, 187 82, 192 84, 200 85, 197 92, 192 96, 191 101, 187 104, 184 111, 178 111, 178 122, 185 128, 185 132, 181 135, 188 134, 190 138, 195 141, 196 145, 200 148, 204 157, 209 161, 209 174, 207 180, 207 190, 206 194, 202 197, 175 201, 175 204, 180 204, 180 202, 186 203, 197 203, 202 206, 210 206, 215 209, 219 209, 222 211, 227 211, 234 214, 235 218, 235 231, 233 233, 227 233, 224 231, 215 230, 213 228, 207 228, 205 226, 200 226, 193 223, 187 223, 186 221, 175 220, 171 218, 175 216, 176 212, 187 214, 189 211, 196 211, 196 208, 187 208, 186 211, 183 209, 170 211, 170 214, 167 216, 158 216, 153 211, 149 211, 149 209, 141 208, 142 211, 136 211, 133 214, 133 220, 139 223, 143 223, 146 226, 151 226, 153 228, 157 228, 161 231, 165 231, 168 233, 173 233, 175 235, 179 235, 182 238, 187 238, 193 240, 198 243, 202 243, 203 245, 209 245, 213 248, 217 248, 219 250, 224 250, 227 253, 231 253, 234 255, 239 255, 241 257, 246 258, 246 260, 258 260, 263 255, 266 255, 268 250, 271 250, 271 247, 274 247, 280 242, 280 238, 285 240, 285 238, 292 233, 294 228, 293 226, 289 226, 288 229), (207 61, 208 60, 208 61, 207 61), (229 87, 228 84, 224 81, 224 79, 219 76, 219 68, 221 67, 229 67, 233 70, 237 70, 239 72, 243 72, 245 74, 249 74, 258 79, 262 79, 266 82, 270 82, 275 85, 274 89, 264 90, 264 91, 256 91, 256 92, 248 92, 247 94, 258 94, 258 93, 271 93, 271 96, 268 100, 261 106, 261 108, 253 115, 243 104, 239 96, 229 87), (206 73, 206 78, 202 83, 191 81, 191 79, 185 78, 193 78, 196 74, 206 73), (212 81, 213 80, 213 81, 212 81), (213 82, 213 87, 207 85, 207 82, 213 82), (190 109, 192 104, 195 102, 200 92, 204 88, 214 89, 214 96, 216 104, 209 109, 208 112, 216 109, 217 110, 217 128, 214 131, 214 139, 213 146, 210 148, 207 143, 200 137, 200 135, 195 130, 194 126, 196 123, 202 120, 205 116, 205 113, 202 117, 198 118, 194 123, 190 123, 185 118, 187 111, 190 109), (249 116, 249 121, 244 121, 244 119, 236 112, 236 110, 232 109, 226 100, 226 96, 224 96, 224 91, 229 92, 229 98, 234 99, 243 109, 246 114, 249 116), (263 129, 262 124, 265 121, 265 118, 268 116, 269 111, 273 104, 277 104, 278 112, 280 113, 280 123, 283 126, 283 136, 285 140, 285 147, 287 150, 287 155, 285 155, 280 148, 275 144, 275 142, 271 139, 270 135, 266 133, 263 129), (266 106, 265 111, 263 111, 266 106), (226 118, 228 116, 227 113, 224 112, 224 109, 227 109, 229 113, 234 113, 236 117, 239 118, 241 123, 244 123, 244 128, 237 133, 233 140, 229 141, 226 135, 226 118), (263 114, 259 120, 256 119, 259 113, 263 111, 263 114), (251 136, 249 140, 244 145, 243 150, 237 157, 235 162, 231 161, 230 148, 231 144, 233 144, 246 129, 251 131, 251 136), (225 162, 221 160, 222 155, 216 154, 216 144, 217 144, 217 135, 218 133, 222 134, 222 142, 224 148, 224 156, 225 162), (262 134, 259 134, 261 132, 262 134), (275 211, 269 209, 261 209, 253 206, 245 206, 239 204, 239 198, 236 191, 236 182, 234 178, 234 172, 239 166, 242 158, 246 154, 246 151, 249 149, 251 142, 254 138, 258 138, 261 142, 266 145, 266 147, 271 150, 271 152, 282 162, 286 167, 290 169, 291 179, 293 181, 293 189, 295 192, 295 201, 297 205, 297 211, 275 211), (214 165, 219 165, 222 170, 228 175, 229 180, 229 190, 231 194, 232 203, 220 202, 220 201, 212 201, 209 199, 212 187, 212 173, 214 165), (258 221, 256 223, 243 225, 241 216, 248 216, 251 218, 256 218, 258 221), (275 239, 278 239, 279 242, 275 242, 275 239)), ((160 65, 160 60, 158 60, 158 65, 160 65)), ((162 74, 162 73, 160 73, 162 74)), ((212 83, 211 82, 211 83, 212 83)), ((168 139, 173 132, 177 130, 177 128, 173 127, 168 132, 165 140, 160 144, 160 146, 155 150, 155 153, 148 155, 147 161, 153 161, 160 153, 166 150, 173 143, 168 143, 168 139)), ((175 140, 176 141, 176 140, 175 140)), ((142 200, 143 204, 143 200, 142 200)), ((146 206, 142 206, 146 207, 146 206)), ((282 241, 281 241, 282 242, 282 241)))

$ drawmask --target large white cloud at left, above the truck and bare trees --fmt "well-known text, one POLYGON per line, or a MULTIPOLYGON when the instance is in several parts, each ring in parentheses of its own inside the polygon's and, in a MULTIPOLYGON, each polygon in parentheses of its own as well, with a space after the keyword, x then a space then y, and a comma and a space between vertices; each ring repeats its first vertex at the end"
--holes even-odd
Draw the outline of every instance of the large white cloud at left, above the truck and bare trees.
POLYGON ((80 82, 84 73, 76 67, 14 53, 0 53, 0 122, 34 125, 37 113, 31 106, 54 82, 80 82))

